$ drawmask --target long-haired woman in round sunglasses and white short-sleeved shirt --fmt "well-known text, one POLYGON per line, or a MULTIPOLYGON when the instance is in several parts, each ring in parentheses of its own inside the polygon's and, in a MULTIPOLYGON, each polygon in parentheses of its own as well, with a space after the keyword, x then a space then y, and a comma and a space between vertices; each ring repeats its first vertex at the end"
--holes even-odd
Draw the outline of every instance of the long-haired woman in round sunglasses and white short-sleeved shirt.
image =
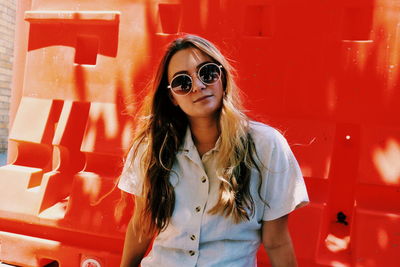
POLYGON ((296 266, 303 177, 285 138, 243 113, 232 72, 203 38, 170 44, 118 185, 135 195, 121 266, 256 266, 261 242, 273 266, 296 266))

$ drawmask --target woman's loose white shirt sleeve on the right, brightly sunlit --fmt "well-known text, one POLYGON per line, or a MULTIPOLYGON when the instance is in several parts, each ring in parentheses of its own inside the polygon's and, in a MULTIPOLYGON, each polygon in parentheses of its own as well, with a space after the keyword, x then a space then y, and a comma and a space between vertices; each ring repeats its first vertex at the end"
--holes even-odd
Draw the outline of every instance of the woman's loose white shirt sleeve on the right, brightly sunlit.
POLYGON ((276 132, 269 162, 266 163, 265 205, 263 220, 280 218, 309 203, 307 189, 299 164, 286 139, 276 132))

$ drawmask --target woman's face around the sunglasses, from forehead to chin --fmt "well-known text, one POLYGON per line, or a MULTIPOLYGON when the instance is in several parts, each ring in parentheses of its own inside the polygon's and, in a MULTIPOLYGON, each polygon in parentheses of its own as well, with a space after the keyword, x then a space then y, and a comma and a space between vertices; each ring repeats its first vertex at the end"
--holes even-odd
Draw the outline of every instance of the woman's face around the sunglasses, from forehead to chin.
POLYGON ((206 85, 197 77, 198 69, 213 60, 196 48, 178 51, 172 56, 168 65, 168 82, 178 74, 188 74, 192 77, 192 91, 187 95, 176 95, 170 92, 174 105, 179 106, 189 119, 215 117, 222 105, 224 94, 222 81, 206 85))

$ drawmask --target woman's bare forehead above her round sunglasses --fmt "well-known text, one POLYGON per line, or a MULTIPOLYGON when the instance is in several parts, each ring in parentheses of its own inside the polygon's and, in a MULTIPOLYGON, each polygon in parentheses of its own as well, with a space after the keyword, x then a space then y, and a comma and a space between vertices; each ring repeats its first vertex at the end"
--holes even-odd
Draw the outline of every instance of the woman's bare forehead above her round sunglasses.
POLYGON ((212 61, 211 57, 197 48, 180 50, 172 56, 169 62, 168 77, 172 78, 179 71, 195 72, 198 65, 208 61, 212 61))

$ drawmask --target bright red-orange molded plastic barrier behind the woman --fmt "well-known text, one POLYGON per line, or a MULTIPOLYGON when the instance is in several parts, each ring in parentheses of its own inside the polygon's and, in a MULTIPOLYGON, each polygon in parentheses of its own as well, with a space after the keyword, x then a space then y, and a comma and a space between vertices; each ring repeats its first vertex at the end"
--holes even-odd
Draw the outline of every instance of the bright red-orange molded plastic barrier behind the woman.
POLYGON ((290 216, 299 265, 399 265, 398 1, 18 3, 2 261, 118 266, 130 214, 115 217, 118 191, 92 204, 121 170, 126 113, 164 45, 189 32, 233 59, 250 115, 300 162, 311 204, 290 216))

